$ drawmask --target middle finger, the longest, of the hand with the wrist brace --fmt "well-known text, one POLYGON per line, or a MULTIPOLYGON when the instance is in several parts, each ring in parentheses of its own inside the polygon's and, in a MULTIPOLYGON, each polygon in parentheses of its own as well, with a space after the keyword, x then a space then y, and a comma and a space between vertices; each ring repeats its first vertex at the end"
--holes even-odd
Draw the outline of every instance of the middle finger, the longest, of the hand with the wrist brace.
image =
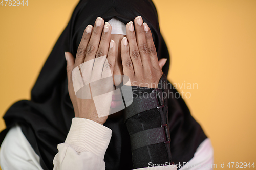
POLYGON ((139 53, 141 57, 141 62, 145 72, 151 71, 152 65, 150 56, 148 55, 147 42, 145 37, 144 25, 141 16, 134 19, 136 41, 139 48, 139 53))

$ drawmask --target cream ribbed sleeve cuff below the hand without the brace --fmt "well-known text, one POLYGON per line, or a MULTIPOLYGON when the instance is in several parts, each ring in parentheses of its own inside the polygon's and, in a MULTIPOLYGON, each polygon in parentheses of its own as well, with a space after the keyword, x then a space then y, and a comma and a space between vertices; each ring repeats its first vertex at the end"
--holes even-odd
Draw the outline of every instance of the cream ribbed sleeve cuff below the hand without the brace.
POLYGON ((104 159, 112 130, 86 118, 73 118, 65 140, 76 152, 91 152, 104 159))

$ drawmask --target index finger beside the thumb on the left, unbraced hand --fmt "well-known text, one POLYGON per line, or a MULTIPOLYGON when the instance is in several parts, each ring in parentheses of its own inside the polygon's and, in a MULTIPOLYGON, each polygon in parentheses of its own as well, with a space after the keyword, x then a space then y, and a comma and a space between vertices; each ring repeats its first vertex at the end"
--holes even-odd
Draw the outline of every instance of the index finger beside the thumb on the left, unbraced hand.
POLYGON ((80 44, 78 46, 77 53, 76 53, 75 67, 84 62, 84 57, 86 56, 85 52, 86 52, 87 44, 91 37, 92 29, 93 29, 92 25, 88 25, 86 29, 84 29, 82 39, 80 41, 80 44))

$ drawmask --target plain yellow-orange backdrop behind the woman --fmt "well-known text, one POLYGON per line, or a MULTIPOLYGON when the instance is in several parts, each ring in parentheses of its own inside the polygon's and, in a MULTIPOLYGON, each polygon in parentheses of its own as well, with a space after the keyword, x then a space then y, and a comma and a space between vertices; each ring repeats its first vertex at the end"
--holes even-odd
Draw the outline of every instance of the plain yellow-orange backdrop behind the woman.
MULTIPOLYGON (((30 90, 78 1, 0 5, 0 115, 30 90)), ((256 1, 155 0, 168 79, 214 147, 215 163, 256 159, 256 1), (198 89, 187 89, 197 83, 198 89), (184 88, 186 85, 186 88, 184 88), (189 95, 187 95, 189 96, 189 95)), ((5 128, 0 120, 0 130, 5 128)))

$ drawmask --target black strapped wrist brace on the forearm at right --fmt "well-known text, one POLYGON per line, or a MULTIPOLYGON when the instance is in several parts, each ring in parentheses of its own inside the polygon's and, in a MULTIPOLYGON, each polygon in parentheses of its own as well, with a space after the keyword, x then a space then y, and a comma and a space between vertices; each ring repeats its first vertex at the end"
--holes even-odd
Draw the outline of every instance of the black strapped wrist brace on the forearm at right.
POLYGON ((167 79, 157 89, 132 86, 133 103, 124 109, 134 168, 172 161, 168 127, 167 79))

